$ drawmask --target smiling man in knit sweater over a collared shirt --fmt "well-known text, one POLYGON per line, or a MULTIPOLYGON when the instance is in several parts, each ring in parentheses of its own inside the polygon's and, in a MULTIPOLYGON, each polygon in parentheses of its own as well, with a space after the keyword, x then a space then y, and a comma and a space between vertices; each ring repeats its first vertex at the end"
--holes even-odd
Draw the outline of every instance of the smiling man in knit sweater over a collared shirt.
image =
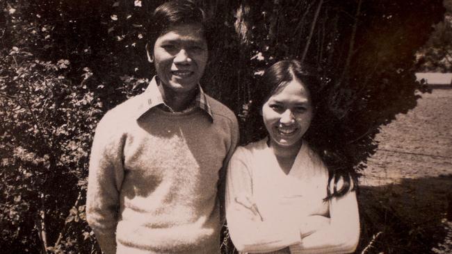
POLYGON ((157 75, 97 126, 88 223, 106 254, 219 253, 218 185, 239 139, 236 117, 199 85, 202 10, 170 1, 152 21, 146 49, 157 75))

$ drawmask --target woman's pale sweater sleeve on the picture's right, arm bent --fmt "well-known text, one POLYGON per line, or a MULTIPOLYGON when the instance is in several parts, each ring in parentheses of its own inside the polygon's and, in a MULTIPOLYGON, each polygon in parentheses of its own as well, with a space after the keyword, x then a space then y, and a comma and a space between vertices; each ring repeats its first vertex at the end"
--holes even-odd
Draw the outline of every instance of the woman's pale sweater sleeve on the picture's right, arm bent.
POLYGON ((360 239, 360 215, 356 192, 329 201, 330 223, 291 246, 291 253, 353 253, 360 239))

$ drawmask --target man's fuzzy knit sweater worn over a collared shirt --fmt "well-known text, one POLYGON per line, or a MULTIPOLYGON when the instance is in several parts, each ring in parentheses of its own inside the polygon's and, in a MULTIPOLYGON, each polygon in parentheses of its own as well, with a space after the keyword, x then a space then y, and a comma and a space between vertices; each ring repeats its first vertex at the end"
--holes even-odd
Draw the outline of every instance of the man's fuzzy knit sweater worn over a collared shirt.
POLYGON ((198 108, 151 108, 138 117, 146 96, 107 112, 97 126, 88 223, 106 254, 219 253, 217 185, 239 139, 236 117, 209 96, 212 119, 198 108))

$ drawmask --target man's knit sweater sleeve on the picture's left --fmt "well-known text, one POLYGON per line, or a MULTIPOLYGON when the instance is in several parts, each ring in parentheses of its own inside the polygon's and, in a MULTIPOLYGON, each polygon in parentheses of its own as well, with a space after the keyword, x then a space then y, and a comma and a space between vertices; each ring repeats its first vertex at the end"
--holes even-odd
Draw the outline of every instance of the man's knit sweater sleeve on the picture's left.
POLYGON ((122 184, 122 142, 115 138, 106 117, 95 132, 90 155, 86 217, 97 242, 106 254, 116 253, 119 190, 122 184))

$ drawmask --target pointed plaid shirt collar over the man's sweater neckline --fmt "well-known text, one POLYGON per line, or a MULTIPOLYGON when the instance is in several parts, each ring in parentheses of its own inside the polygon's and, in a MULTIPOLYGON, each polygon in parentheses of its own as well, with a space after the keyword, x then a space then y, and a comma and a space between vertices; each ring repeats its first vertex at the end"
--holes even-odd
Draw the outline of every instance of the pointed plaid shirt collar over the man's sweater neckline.
MULTIPOLYGON (((152 81, 147 86, 145 92, 143 95, 143 103, 141 103, 140 107, 138 108, 137 112, 137 119, 140 118, 145 112, 150 110, 151 108, 163 108, 163 110, 168 110, 170 112, 173 112, 173 110, 170 108, 170 106, 166 105, 165 101, 163 101, 163 96, 161 95, 161 92, 159 90, 159 87, 157 85, 157 78, 158 76, 154 76, 152 78, 152 81)), ((190 112, 192 110, 195 110, 195 108, 200 108, 204 112, 209 115, 209 118, 211 121, 213 121, 213 115, 212 110, 209 105, 209 101, 207 101, 207 95, 204 93, 204 91, 201 88, 201 85, 197 85, 197 93, 195 96, 195 100, 193 100, 190 105, 188 105, 188 108, 185 110, 182 110, 181 112, 190 112)))

